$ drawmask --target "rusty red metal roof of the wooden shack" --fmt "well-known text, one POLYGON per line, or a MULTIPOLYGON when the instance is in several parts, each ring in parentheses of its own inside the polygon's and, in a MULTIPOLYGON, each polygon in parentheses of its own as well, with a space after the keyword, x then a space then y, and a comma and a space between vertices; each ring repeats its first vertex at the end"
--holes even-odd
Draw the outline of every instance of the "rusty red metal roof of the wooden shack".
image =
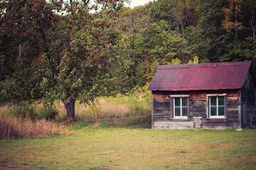
POLYGON ((252 62, 160 65, 150 91, 240 89, 252 62))

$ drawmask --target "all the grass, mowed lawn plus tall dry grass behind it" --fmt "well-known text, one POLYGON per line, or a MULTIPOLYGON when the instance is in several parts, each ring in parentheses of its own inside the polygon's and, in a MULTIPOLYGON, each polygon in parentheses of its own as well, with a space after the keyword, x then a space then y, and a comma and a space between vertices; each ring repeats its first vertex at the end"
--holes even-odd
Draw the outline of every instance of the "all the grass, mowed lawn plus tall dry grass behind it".
POLYGON ((55 109, 0 107, 0 169, 256 169, 256 129, 151 130, 150 94, 55 109))

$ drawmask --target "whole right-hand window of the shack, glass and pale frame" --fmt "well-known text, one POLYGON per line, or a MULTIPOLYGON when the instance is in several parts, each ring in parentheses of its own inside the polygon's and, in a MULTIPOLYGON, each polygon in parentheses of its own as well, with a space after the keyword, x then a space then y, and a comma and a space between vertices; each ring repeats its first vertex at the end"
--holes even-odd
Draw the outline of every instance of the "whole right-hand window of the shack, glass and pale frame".
POLYGON ((208 95, 208 118, 226 118, 225 94, 208 95))

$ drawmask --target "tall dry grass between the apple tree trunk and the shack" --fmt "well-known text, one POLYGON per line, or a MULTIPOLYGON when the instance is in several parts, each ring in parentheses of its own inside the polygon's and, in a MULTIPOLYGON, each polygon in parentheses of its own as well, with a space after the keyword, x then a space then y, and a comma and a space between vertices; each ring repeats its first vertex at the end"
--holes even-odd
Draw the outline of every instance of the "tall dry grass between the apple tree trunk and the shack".
MULTIPOLYGON (((149 98, 151 100, 151 96, 149 98)), ((55 103, 58 110, 57 120, 65 120, 66 111, 63 103, 55 103)), ((96 121, 104 119, 149 118, 151 101, 134 96, 119 98, 97 98, 91 105, 75 103, 75 119, 79 121, 96 121)))

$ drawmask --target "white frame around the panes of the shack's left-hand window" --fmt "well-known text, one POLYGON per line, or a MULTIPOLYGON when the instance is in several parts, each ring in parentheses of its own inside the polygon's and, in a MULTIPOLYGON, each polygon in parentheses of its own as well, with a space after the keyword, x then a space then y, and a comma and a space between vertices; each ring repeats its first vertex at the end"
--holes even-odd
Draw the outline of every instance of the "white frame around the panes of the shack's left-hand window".
POLYGON ((189 95, 171 95, 172 98, 172 111, 173 111, 173 118, 174 119, 188 119, 188 108, 189 108, 189 104, 188 104, 188 97, 189 95), (187 100, 187 105, 186 106, 182 106, 182 100, 181 100, 181 106, 175 106, 175 98, 186 98, 187 100), (180 108, 181 109, 181 116, 176 116, 175 115, 175 108, 180 108), (182 108, 187 108, 187 113, 185 116, 182 116, 182 108))

